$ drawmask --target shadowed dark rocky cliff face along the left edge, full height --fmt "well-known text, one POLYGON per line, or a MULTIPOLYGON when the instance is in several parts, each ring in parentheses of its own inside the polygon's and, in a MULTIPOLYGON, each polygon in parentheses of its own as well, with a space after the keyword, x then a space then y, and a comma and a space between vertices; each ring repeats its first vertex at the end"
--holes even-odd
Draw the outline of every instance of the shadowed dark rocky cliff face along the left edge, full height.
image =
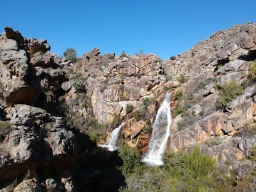
POLYGON ((45 40, 5 31, 0 36, 0 191, 74 191, 76 138, 63 118, 45 111, 60 95, 60 65, 45 40))

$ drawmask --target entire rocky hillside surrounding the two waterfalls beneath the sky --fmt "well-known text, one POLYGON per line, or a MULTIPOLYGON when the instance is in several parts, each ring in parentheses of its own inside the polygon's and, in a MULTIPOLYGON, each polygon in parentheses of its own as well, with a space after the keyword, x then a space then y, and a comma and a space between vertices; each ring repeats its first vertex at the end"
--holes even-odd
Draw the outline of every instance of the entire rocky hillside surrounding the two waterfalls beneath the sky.
POLYGON ((78 183, 73 168, 86 159, 81 134, 104 143, 125 123, 120 143, 145 152, 167 92, 170 150, 200 145, 240 180, 255 165, 255 23, 218 31, 164 61, 154 54, 102 56, 95 48, 71 63, 50 49, 12 28, 0 36, 0 191, 86 185, 96 172, 80 169, 78 183))

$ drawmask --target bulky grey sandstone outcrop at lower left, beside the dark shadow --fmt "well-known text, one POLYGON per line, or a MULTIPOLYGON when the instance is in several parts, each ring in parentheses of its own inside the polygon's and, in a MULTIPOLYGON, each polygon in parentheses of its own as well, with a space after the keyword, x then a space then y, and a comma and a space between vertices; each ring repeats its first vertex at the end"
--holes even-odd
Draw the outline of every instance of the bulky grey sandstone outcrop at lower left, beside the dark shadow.
POLYGON ((76 160, 79 150, 76 138, 65 129, 67 125, 61 118, 22 104, 16 105, 15 111, 12 131, 8 140, 1 144, 7 150, 1 156, 1 180, 17 177, 29 167, 35 168, 46 162, 70 165, 76 160), (46 134, 45 129, 50 132, 46 134))

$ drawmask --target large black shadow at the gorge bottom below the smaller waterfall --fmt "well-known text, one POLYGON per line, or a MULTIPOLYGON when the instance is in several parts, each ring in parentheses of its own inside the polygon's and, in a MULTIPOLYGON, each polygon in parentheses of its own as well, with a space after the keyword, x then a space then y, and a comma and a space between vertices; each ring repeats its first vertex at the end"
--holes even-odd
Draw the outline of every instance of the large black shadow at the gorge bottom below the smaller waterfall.
POLYGON ((122 159, 118 152, 109 152, 77 130, 73 131, 81 148, 73 173, 77 191, 118 191, 126 186, 125 177, 118 166, 122 159))

